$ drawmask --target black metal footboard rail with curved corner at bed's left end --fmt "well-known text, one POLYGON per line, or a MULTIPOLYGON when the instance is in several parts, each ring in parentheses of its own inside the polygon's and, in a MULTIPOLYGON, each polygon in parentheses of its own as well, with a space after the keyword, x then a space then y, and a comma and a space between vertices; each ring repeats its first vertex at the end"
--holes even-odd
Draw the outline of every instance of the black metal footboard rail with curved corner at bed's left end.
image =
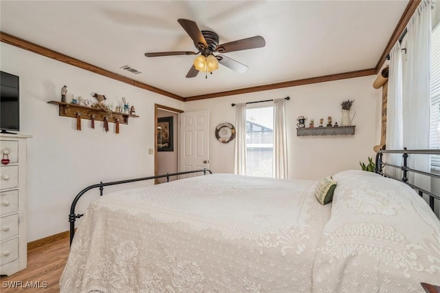
POLYGON ((209 172, 210 174, 212 174, 212 172, 209 169, 199 169, 199 170, 185 171, 185 172, 178 172, 178 173, 166 173, 164 175, 157 175, 157 176, 150 176, 150 177, 134 178, 134 179, 129 179, 129 180, 113 181, 113 182, 107 182, 107 183, 100 182, 98 184, 93 184, 93 185, 87 186, 82 191, 80 191, 80 193, 78 193, 78 195, 76 195, 74 201, 72 202, 72 206, 70 206, 70 214, 69 214, 70 246, 72 246, 72 241, 74 240, 75 221, 76 221, 76 219, 79 219, 80 217, 83 217, 83 215, 84 215, 84 214, 76 214, 75 207, 76 207, 76 204, 78 203, 78 200, 85 193, 87 193, 87 191, 94 189, 94 188, 99 188, 100 196, 102 196, 103 191, 104 191, 104 186, 125 184, 125 183, 138 182, 138 181, 143 181, 143 180, 159 179, 159 178, 164 178, 164 177, 166 177, 166 182, 169 182, 170 177, 178 176, 178 175, 185 175, 185 174, 190 174, 190 173, 199 173, 199 172, 203 172, 203 175, 206 175, 206 172, 209 172))

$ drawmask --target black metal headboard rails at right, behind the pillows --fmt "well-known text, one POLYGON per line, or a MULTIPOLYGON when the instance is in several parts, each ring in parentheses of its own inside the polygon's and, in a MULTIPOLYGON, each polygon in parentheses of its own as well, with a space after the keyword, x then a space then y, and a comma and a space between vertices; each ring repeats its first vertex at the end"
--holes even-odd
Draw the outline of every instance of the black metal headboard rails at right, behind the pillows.
MULTIPOLYGON (((420 171, 420 170, 415 170, 415 169, 409 168, 408 167, 408 158, 410 157, 411 154, 414 154, 414 155, 440 155, 440 149, 417 149, 417 150, 408 150, 406 148, 404 148, 403 150, 382 150, 381 149, 380 151, 377 151, 377 154, 376 154, 375 173, 380 174, 384 177, 390 177, 395 180, 400 180, 400 181, 404 182, 405 184, 408 184, 408 186, 411 186, 416 191, 418 191, 418 193, 421 197, 423 197, 423 194, 428 195, 429 196, 429 205, 430 205, 432 211, 434 211, 434 199, 437 199, 440 201, 440 195, 437 195, 435 193, 431 193, 430 191, 426 191, 423 188, 420 188, 420 187, 417 187, 413 184, 410 184, 408 182, 408 172, 426 175, 426 176, 436 178, 436 179, 440 179, 440 175, 434 174, 432 172, 425 172, 425 171, 420 171), (403 162, 402 166, 397 166, 394 164, 389 164, 389 163, 384 162, 382 160, 382 155, 384 153, 401 153, 402 158, 404 158, 404 162, 403 162), (401 173, 402 177, 396 178, 396 177, 389 175, 388 173, 385 173, 383 170, 384 166, 400 169, 402 171, 402 173, 401 173)), ((439 182, 439 184, 440 184, 440 182, 439 182)))

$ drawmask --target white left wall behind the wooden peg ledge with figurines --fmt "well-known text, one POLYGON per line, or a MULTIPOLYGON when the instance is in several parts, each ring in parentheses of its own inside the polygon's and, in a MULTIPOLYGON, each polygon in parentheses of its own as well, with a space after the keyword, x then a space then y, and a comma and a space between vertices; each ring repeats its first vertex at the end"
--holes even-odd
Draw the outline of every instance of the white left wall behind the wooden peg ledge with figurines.
MULTIPOLYGON (((72 199, 86 186, 154 174, 154 155, 148 155, 148 149, 154 149, 154 104, 181 109, 183 102, 5 43, 0 43, 0 51, 1 70, 20 76, 20 133, 33 135, 28 140, 28 241, 68 230, 72 199), (124 96, 140 118, 120 124, 120 134, 115 134, 113 123, 108 133, 98 121, 91 129, 89 120, 77 131, 74 118, 58 116, 58 106, 47 104, 61 100, 63 85, 68 98, 74 94, 95 100, 91 96, 98 93, 116 103, 124 96)), ((114 189, 105 188, 104 193, 114 189)), ((77 213, 98 195, 91 193, 77 213)))

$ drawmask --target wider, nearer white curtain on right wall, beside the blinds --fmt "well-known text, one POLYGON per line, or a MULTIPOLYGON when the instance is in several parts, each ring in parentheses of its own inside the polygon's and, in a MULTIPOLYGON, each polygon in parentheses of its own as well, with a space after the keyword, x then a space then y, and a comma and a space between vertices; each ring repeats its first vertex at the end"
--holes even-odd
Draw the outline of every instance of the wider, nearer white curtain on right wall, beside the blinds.
MULTIPOLYGON (((407 26, 406 70, 402 95, 403 144, 408 149, 429 148, 430 117, 430 1, 423 0, 407 26)), ((411 168, 430 171, 429 157, 412 155, 411 168)), ((410 182, 429 190, 429 180, 412 174, 410 182), (414 180, 414 181, 412 181, 414 180)))

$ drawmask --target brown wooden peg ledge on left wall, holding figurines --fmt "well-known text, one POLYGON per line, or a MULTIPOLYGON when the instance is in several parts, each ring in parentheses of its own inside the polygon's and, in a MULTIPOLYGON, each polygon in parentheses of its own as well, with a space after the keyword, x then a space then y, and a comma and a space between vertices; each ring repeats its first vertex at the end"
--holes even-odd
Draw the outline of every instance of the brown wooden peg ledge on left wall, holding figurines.
POLYGON ((120 113, 114 111, 104 111, 102 109, 96 109, 92 107, 69 104, 68 102, 58 102, 57 100, 50 100, 48 104, 54 104, 59 106, 60 116, 76 118, 78 113, 80 113, 81 119, 91 120, 92 116, 96 121, 104 121, 104 117, 107 118, 109 122, 115 123, 119 119, 121 124, 129 124, 129 117, 137 118, 139 116, 120 113))

